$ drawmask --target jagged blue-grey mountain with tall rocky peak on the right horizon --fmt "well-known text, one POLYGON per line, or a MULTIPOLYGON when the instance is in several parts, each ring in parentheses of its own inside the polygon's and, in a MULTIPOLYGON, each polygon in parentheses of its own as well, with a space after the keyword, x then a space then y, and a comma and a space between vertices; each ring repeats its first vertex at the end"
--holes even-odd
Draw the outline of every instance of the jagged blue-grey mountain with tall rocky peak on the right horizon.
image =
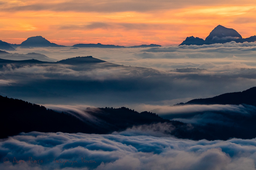
POLYGON ((215 43, 227 43, 227 42, 254 42, 256 41, 256 36, 252 36, 249 38, 242 38, 242 36, 232 28, 226 28, 224 26, 218 25, 215 27, 208 37, 205 40, 198 37, 186 37, 180 45, 209 45, 215 43))

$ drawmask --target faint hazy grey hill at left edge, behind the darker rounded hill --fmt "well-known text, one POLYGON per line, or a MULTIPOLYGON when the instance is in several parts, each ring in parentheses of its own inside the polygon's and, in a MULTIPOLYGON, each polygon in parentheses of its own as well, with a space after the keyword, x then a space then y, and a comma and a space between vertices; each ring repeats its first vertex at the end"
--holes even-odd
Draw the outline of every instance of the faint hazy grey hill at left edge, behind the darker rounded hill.
MULTIPOLYGON (((4 51, 5 52, 5 51, 4 51)), ((58 61, 57 59, 52 59, 44 54, 38 54, 38 53, 28 53, 28 54, 12 54, 7 52, 1 52, 0 51, 0 58, 1 59, 9 59, 9 60, 27 60, 27 59, 37 59, 40 61, 46 61, 46 62, 55 62, 58 61)))

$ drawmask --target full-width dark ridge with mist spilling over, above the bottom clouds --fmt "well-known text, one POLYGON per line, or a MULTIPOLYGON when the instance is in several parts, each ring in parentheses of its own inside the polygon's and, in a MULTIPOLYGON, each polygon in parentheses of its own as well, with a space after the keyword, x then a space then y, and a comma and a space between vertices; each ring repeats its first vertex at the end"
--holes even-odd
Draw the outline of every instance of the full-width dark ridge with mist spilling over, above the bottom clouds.
POLYGON ((241 107, 244 112, 179 113, 176 119, 169 120, 175 114, 163 119, 155 113, 138 113, 124 107, 86 108, 83 113, 66 109, 58 113, 44 106, 0 96, 0 138, 31 131, 108 134, 133 128, 193 140, 252 139, 256 137, 256 108, 246 107, 241 107))

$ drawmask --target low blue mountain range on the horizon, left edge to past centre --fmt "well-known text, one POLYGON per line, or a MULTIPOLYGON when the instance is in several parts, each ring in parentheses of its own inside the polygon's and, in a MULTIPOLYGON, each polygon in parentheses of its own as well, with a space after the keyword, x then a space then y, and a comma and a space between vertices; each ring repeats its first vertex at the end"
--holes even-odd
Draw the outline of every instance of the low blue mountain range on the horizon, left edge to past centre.
MULTIPOLYGON (((3 42, 0 40, 0 49, 12 51, 15 48, 33 48, 33 47, 66 47, 64 45, 58 45, 52 42, 49 42, 42 36, 29 37, 27 40, 23 41, 21 44, 11 44, 7 42, 3 42)), ((146 48, 146 47, 161 47, 161 45, 150 44, 150 45, 137 45, 131 47, 119 46, 119 45, 104 45, 101 43, 98 44, 76 44, 73 45, 73 49, 76 47, 80 48, 146 48)))

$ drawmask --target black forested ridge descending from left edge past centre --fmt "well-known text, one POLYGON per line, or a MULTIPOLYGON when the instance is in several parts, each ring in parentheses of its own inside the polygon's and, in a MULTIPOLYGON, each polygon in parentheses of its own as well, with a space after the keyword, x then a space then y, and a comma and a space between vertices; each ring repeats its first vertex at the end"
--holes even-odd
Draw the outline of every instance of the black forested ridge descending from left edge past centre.
MULTIPOLYGON (((0 96, 0 138, 13 136, 21 132, 64 132, 64 133, 98 133, 107 134, 122 131, 134 125, 151 125, 166 123, 178 137, 186 137, 186 124, 162 119, 155 113, 138 113, 128 108, 94 108, 87 109, 87 119, 81 115, 58 113, 47 110, 44 106, 35 105, 19 99, 0 96)), ((189 135, 189 133, 188 133, 189 135)), ((190 136, 190 135, 189 135, 190 136)), ((191 138, 191 136, 189 137, 191 138)))

